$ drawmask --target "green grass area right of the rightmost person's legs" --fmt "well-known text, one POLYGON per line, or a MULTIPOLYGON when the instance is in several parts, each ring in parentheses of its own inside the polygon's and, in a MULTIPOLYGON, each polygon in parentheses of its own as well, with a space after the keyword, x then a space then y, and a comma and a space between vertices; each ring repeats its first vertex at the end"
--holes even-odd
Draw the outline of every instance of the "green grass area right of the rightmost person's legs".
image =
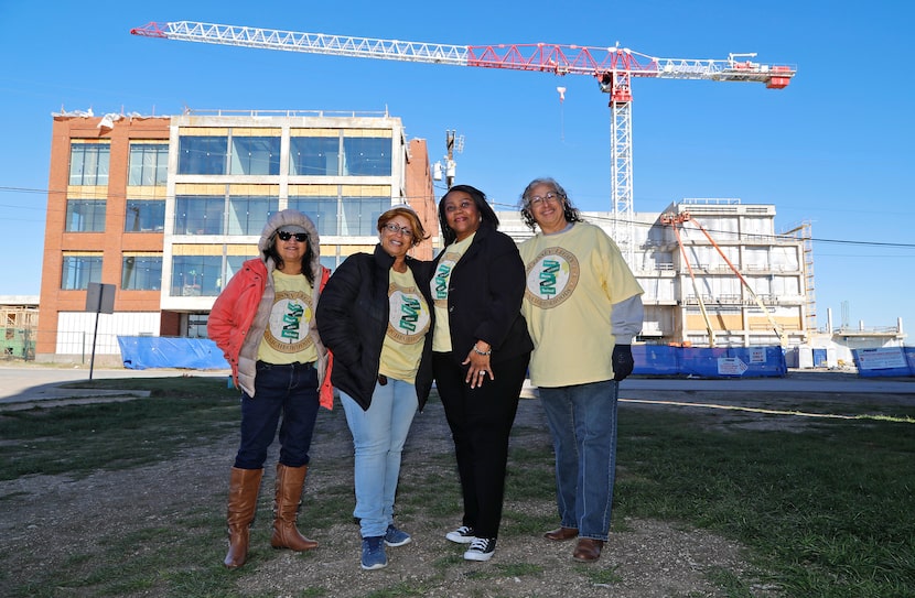
POLYGON ((915 596, 912 424, 732 433, 624 413, 618 446, 617 515, 735 539, 789 596, 915 596))

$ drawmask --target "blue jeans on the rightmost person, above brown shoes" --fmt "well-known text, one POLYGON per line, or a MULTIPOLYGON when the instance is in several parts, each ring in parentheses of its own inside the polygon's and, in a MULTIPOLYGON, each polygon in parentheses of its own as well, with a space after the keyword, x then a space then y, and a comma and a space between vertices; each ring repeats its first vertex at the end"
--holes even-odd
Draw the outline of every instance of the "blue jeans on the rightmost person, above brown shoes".
POLYGON ((556 452, 560 524, 580 537, 606 541, 616 477, 616 399, 613 380, 540 388, 556 452))

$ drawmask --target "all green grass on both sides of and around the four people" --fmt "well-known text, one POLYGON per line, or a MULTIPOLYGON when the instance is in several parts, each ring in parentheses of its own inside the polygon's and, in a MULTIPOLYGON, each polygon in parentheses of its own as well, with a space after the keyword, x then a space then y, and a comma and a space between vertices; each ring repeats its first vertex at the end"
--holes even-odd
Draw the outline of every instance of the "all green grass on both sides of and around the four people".
MULTIPOLYGON (((105 380, 88 385, 146 389, 152 396, 2 413, 0 480, 138 468, 237 432, 238 396, 220 379, 105 380)), ((828 405, 818 405, 818 411, 827 412, 828 405)), ((855 411, 860 415, 865 410, 855 411)), ((621 405, 614 533, 625 533, 625 518, 650 518, 740 542, 747 548, 744 556, 752 570, 707 573, 731 598, 753 596, 756 586, 798 598, 915 596, 915 412, 906 406, 889 411, 881 417, 816 420, 798 432, 721 430, 708 425, 710 416, 698 410, 621 405)), ((536 439, 536 434, 520 426, 515 431, 516 438, 526 441, 536 439)), ((551 448, 547 433, 539 434, 542 442, 513 443, 505 537, 536 536, 556 523, 551 448)), ((422 463, 403 470, 398 517, 452 525, 460 515, 453 454, 430 454, 422 463)), ((341 480, 352 479, 352 460, 321 467, 333 468, 341 480)), ((320 496, 306 494, 308 531, 320 534, 351 521, 352 496, 352 485, 343 481, 322 488, 320 496)), ((0 509, 13 500, 21 496, 0 497, 0 509)), ((252 532, 257 548, 250 555, 251 567, 226 572, 220 564, 224 526, 224 512, 189 503, 170 518, 150 520, 120 536, 105 535, 98 545, 74 545, 66 562, 29 584, 11 587, 10 574, 0 572, 0 586, 10 596, 39 598, 243 596, 236 585, 239 576, 274 558, 262 548, 269 532, 252 532)), ((0 554, 0 561, 4 556, 0 554)), ((430 577, 367 595, 421 596, 461 565, 458 553, 442 556, 434 561, 430 577)), ((487 577, 550 575, 525 562, 496 565, 474 572, 487 577)), ((612 588, 622 579, 611 563, 575 570, 596 586, 612 588)), ((333 588, 310 587, 297 596, 333 594, 333 588)))

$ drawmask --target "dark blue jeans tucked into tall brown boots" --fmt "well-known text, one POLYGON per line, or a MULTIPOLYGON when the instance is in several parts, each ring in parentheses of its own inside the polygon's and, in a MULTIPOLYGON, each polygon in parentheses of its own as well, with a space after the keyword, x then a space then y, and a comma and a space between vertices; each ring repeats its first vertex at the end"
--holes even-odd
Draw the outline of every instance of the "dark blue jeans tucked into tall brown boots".
POLYGON ((280 414, 280 463, 288 467, 308 465, 317 417, 317 371, 314 367, 257 362, 255 396, 241 393, 241 443, 235 467, 263 467, 280 414))

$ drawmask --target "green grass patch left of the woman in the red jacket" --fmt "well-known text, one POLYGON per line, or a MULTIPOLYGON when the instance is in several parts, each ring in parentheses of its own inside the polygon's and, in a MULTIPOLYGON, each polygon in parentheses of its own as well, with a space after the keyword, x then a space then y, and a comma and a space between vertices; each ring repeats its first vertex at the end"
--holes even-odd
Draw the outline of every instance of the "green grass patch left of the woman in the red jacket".
MULTIPOLYGON (((86 387, 86 383, 79 383, 86 387)), ((213 378, 100 380, 150 399, 8 411, 0 417, 0 480, 30 474, 82 477, 166 460, 238 425, 238 392, 213 378)))

